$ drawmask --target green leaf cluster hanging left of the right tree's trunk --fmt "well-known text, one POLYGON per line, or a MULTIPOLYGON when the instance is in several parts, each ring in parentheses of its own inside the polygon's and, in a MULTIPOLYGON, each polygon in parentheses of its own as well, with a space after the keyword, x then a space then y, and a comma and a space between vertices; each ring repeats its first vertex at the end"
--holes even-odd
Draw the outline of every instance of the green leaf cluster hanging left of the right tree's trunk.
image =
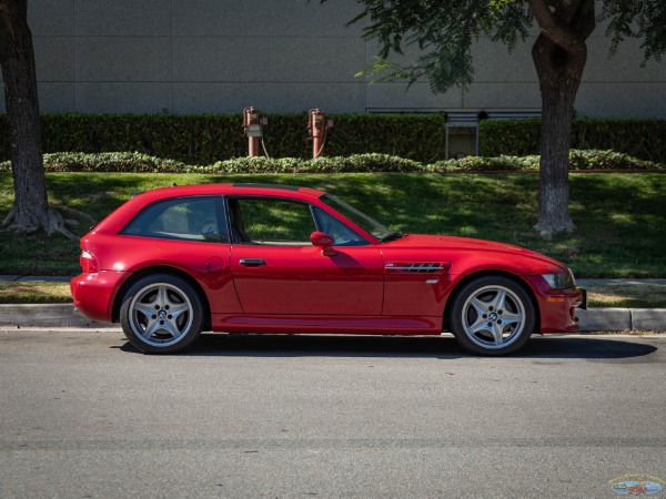
POLYGON ((474 75, 472 43, 484 34, 515 47, 532 24, 529 9, 515 0, 360 0, 366 39, 380 43, 372 81, 427 79, 434 93, 467 86, 474 75), (411 58, 402 58, 403 54, 411 58), (392 54, 395 54, 392 57, 392 54), (383 74, 381 78, 377 75, 383 74))

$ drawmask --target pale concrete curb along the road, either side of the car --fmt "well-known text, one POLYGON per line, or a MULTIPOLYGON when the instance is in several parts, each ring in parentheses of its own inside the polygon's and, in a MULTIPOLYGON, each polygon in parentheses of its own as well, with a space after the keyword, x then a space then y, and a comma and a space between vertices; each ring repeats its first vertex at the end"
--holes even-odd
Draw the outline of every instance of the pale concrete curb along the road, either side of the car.
MULTIPOLYGON (((666 332, 666 308, 578 309, 581 330, 659 330, 666 332)), ((118 327, 95 323, 74 314, 71 304, 0 305, 0 326, 118 327)))

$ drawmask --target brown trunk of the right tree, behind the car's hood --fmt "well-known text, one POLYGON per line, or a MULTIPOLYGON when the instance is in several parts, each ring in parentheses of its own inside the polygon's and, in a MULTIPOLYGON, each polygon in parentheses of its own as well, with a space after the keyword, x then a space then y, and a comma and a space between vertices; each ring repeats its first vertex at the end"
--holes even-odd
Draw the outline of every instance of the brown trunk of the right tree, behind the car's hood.
POLYGON ((529 4, 542 29, 532 59, 542 93, 538 221, 547 240, 572 232, 569 216, 569 146, 574 101, 587 61, 585 40, 595 27, 594 0, 573 0, 554 11, 544 0, 529 4))

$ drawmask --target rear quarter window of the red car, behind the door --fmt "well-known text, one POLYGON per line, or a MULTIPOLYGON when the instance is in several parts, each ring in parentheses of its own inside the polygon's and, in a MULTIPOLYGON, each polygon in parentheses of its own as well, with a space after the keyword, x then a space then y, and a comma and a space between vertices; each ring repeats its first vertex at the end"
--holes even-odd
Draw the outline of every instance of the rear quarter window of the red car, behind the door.
POLYGON ((142 210, 121 234, 162 240, 229 243, 221 197, 164 200, 142 210))

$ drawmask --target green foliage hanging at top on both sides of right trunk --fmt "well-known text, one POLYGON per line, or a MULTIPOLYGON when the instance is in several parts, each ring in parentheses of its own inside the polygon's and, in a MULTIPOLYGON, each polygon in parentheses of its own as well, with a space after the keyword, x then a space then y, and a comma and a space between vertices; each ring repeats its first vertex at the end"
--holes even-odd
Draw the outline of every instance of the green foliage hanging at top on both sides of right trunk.
MULTIPOLYGON (((529 3, 561 18, 565 7, 585 2, 589 0, 359 0, 364 10, 349 24, 365 20, 364 37, 380 43, 375 62, 365 70, 375 81, 406 79, 411 84, 425 78, 433 92, 443 93, 472 83, 472 45, 480 37, 508 50, 527 39, 535 24, 529 3), (407 47, 417 47, 421 54, 407 63, 391 61, 392 53, 404 54, 407 47)), ((643 40, 644 63, 659 62, 666 52, 664 0, 605 0, 597 19, 608 21, 612 54, 628 38, 643 40)))

